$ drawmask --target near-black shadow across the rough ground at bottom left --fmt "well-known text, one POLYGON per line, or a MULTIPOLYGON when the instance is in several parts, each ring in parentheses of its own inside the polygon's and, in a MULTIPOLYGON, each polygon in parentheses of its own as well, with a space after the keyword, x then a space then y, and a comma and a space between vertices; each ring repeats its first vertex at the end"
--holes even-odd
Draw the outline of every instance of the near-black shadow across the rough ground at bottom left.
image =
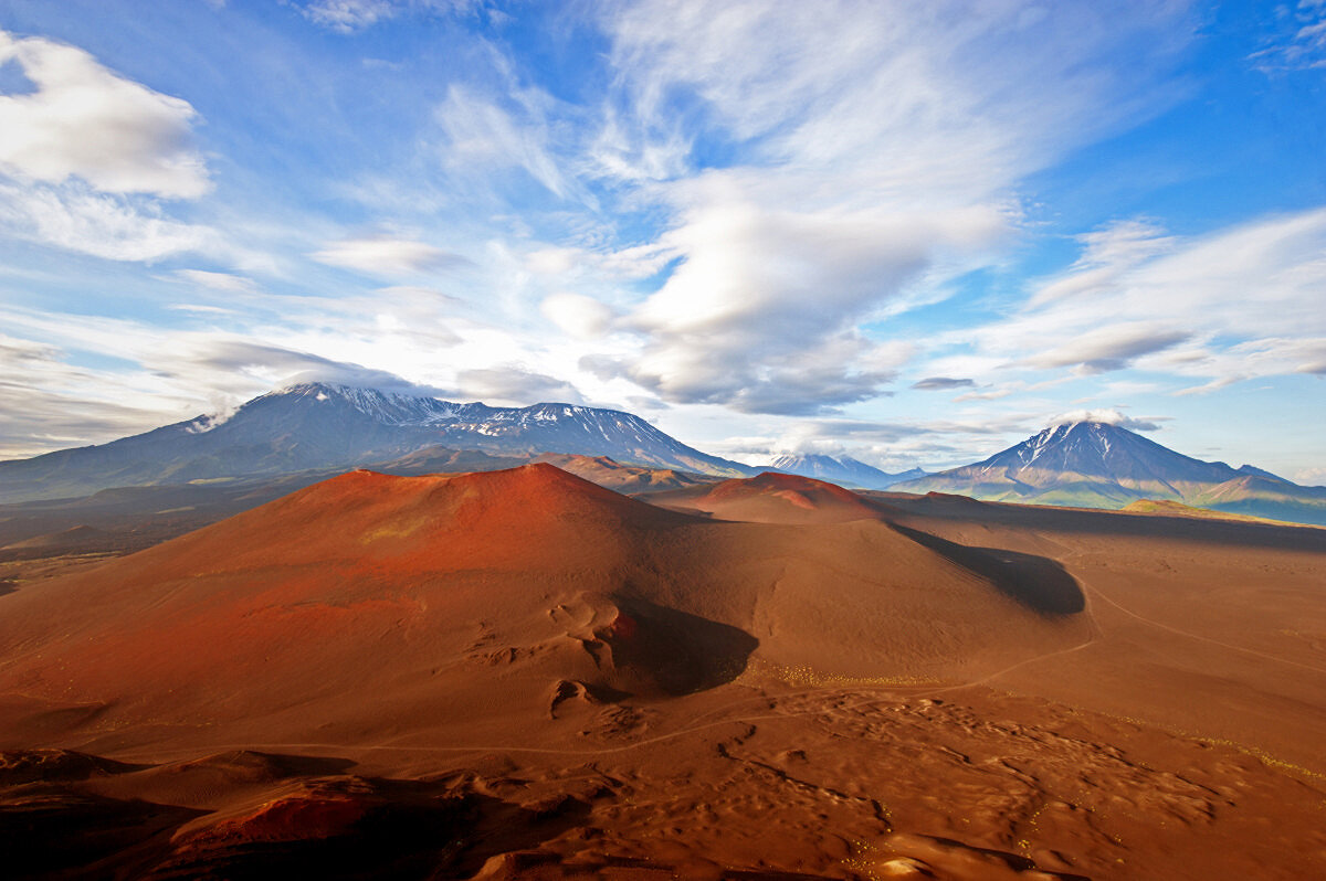
POLYGON ((583 825, 591 811, 573 796, 518 804, 477 791, 487 784, 518 790, 518 780, 306 776, 300 771, 354 763, 259 755, 294 772, 272 782, 277 800, 292 788, 298 795, 301 783, 309 800, 296 798, 265 820, 186 828, 207 811, 89 794, 77 782, 0 788, 3 874, 152 881, 468 878, 504 853, 516 852, 516 862, 546 861, 537 848, 583 825), (358 816, 341 823, 337 817, 347 805, 358 816))

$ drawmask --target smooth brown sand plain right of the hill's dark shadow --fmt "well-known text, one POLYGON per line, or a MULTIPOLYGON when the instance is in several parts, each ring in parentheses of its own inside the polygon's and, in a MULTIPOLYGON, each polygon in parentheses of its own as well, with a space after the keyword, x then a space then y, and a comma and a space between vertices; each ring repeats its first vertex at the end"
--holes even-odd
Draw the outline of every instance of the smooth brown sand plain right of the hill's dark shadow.
POLYGON ((1326 529, 891 498, 900 523, 1054 559, 1097 637, 997 688, 1237 743, 1326 774, 1326 529))

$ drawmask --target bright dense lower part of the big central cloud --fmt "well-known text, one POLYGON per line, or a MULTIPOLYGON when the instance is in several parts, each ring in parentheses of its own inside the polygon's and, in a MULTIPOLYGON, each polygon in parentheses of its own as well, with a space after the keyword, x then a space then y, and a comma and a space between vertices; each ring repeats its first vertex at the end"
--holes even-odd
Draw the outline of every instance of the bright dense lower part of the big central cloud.
POLYGON ((983 208, 928 217, 793 212, 723 196, 687 217, 667 237, 684 261, 623 319, 644 338, 623 372, 674 403, 768 413, 880 395, 915 350, 876 343, 855 323, 937 249, 1001 228, 983 208))

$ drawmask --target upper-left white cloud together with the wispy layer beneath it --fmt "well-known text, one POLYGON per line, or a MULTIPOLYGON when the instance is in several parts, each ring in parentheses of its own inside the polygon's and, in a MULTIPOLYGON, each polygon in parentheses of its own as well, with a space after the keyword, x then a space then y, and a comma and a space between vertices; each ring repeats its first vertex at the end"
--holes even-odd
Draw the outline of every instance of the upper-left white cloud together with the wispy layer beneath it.
POLYGON ((194 107, 76 46, 0 30, 0 65, 30 89, 0 91, 0 232, 105 260, 152 262, 217 249, 163 199, 211 189, 194 107))

